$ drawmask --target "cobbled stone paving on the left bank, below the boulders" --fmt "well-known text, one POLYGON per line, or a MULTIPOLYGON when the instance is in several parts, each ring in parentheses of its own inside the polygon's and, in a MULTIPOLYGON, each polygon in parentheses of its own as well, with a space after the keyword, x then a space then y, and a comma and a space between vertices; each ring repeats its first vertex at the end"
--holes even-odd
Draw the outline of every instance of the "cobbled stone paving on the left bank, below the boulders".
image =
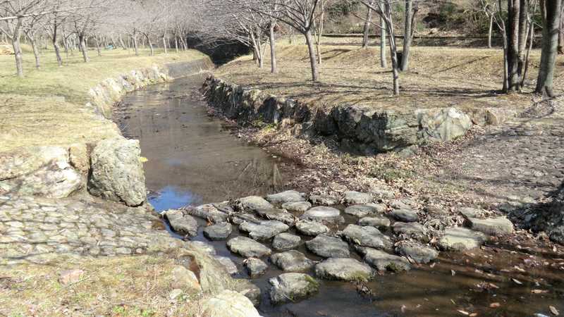
POLYGON ((157 216, 89 195, 0 197, 0 264, 47 263, 61 254, 116 256, 178 247, 157 216), (160 227, 161 228, 161 227, 160 227))

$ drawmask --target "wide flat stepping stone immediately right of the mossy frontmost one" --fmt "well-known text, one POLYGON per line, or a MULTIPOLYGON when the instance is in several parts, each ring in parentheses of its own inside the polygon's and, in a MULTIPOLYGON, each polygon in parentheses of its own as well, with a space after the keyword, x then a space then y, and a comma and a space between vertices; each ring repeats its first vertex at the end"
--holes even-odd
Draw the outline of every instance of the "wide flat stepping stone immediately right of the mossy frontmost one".
POLYGON ((350 258, 326 259, 315 266, 315 276, 325 280, 367 282, 374 278, 374 273, 366 263, 350 258))

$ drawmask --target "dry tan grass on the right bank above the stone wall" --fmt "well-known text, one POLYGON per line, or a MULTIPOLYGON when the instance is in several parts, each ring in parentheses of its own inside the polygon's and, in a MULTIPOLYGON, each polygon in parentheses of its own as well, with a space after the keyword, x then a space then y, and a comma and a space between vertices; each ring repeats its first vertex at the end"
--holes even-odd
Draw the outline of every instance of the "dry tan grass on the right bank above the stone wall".
MULTIPOLYGON (((317 83, 310 80, 305 46, 280 44, 277 49, 280 73, 276 75, 269 72, 269 58, 259 69, 250 56, 222 66, 216 74, 271 94, 317 104, 362 104, 397 111, 443 106, 524 108, 532 99, 531 94, 498 94, 503 73, 500 49, 415 46, 410 71, 400 74, 400 97, 391 94, 391 71, 380 68, 378 48, 323 46, 321 80, 317 83)), ((525 92, 534 89, 539 58, 540 51, 532 51, 525 92)), ((564 58, 559 56, 554 82, 558 93, 564 92, 563 65, 564 58)))

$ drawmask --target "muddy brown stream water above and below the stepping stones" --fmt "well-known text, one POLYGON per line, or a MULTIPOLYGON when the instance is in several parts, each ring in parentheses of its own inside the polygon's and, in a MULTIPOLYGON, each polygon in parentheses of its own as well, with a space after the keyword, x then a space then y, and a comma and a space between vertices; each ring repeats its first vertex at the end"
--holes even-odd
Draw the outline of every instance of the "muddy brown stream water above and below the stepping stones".
MULTIPOLYGON (((140 139, 148 159, 147 187, 154 192, 150 200, 158 211, 276 192, 299 173, 296 166, 245 144, 231 135, 228 125, 207 116, 197 92, 201 80, 191 77, 133 92, 117 111, 124 134, 140 139)), ((218 255, 236 263, 236 277, 248 278, 243 259, 231 254, 225 242, 208 241, 202 235, 204 221, 200 224, 192 240, 212 244, 218 255)), ((320 260, 303 245, 299 250, 320 260)), ((550 316, 549 306, 564 313, 564 259, 559 257, 564 256, 550 250, 507 250, 491 244, 464 254, 443 253, 432 267, 379 275, 363 285, 369 294, 357 292, 352 283, 321 281, 316 296, 277 306, 268 299, 268 278, 282 272, 271 266, 252 281, 262 289, 259 311, 265 317, 550 316)))

